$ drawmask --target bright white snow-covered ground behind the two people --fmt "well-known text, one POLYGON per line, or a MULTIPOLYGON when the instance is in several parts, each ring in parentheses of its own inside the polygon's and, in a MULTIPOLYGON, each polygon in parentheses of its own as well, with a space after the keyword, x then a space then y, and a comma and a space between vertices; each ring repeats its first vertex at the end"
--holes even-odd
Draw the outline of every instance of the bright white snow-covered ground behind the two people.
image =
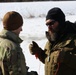
POLYGON ((60 7, 66 15, 66 20, 76 21, 76 1, 41 1, 41 2, 7 2, 0 3, 0 30, 2 30, 2 18, 8 11, 19 12, 24 20, 23 31, 20 37, 24 40, 21 44, 29 71, 35 70, 39 75, 44 75, 44 64, 31 55, 29 44, 36 41, 44 49, 47 41, 45 31, 45 16, 49 9, 60 7))

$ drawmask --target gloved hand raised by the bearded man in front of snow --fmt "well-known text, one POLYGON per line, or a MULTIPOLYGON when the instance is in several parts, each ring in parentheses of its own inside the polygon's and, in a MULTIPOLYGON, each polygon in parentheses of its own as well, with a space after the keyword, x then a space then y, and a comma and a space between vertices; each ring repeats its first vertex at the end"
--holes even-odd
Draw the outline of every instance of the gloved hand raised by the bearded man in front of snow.
POLYGON ((39 53, 40 47, 36 42, 32 41, 32 44, 29 45, 29 50, 32 55, 35 55, 36 53, 39 53))

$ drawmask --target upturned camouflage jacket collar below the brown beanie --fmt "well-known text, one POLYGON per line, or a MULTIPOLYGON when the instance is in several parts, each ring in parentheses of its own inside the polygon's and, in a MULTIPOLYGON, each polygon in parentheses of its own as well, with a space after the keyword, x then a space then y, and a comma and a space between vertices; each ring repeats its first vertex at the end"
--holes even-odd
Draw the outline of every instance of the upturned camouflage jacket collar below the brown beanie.
POLYGON ((0 37, 2 38, 6 38, 6 39, 9 39, 15 43, 21 43, 23 40, 18 36, 16 35, 14 32, 12 31, 8 31, 8 30, 5 30, 3 29, 1 32, 0 32, 0 37))

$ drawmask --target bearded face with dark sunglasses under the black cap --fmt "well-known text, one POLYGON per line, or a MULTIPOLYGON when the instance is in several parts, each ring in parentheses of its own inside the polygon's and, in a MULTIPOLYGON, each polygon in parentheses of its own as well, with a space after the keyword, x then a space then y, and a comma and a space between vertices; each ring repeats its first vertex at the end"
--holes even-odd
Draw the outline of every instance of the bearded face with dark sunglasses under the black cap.
POLYGON ((58 31, 59 31, 59 23, 57 21, 53 20, 47 20, 46 25, 48 27, 48 31, 46 32, 46 37, 49 41, 56 41, 58 37, 58 31))

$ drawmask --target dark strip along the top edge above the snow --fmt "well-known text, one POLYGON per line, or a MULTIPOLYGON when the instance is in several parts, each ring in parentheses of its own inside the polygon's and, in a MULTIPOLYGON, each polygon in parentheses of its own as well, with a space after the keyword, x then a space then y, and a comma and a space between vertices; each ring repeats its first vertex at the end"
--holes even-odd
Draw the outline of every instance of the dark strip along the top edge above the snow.
POLYGON ((30 2, 30 1, 75 1, 75 0, 0 0, 0 2, 30 2))

